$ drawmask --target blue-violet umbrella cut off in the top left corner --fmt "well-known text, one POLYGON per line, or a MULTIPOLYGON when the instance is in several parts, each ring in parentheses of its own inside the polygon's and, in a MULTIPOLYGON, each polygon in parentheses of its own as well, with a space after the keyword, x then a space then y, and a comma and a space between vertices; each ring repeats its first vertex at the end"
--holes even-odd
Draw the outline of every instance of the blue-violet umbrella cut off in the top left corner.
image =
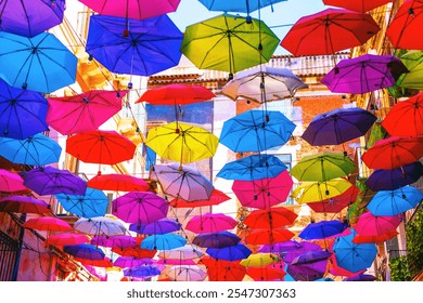
POLYGON ((63 21, 65 0, 3 1, 0 4, 1 30, 34 37, 63 21))

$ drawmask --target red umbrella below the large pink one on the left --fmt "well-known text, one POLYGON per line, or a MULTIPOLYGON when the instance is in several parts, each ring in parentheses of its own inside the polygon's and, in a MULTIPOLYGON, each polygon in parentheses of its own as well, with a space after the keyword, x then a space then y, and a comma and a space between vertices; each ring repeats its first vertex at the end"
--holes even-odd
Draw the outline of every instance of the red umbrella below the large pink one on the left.
POLYGON ((66 139, 66 153, 87 163, 116 164, 130 160, 136 148, 116 131, 88 131, 66 139))

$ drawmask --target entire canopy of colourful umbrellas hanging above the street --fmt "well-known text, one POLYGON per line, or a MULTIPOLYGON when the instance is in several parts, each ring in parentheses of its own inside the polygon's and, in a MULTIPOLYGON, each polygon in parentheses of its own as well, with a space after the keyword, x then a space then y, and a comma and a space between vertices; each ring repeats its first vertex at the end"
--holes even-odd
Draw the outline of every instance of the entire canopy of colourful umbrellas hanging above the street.
MULTIPOLYGON (((380 30, 368 12, 390 2, 323 1, 339 8, 299 18, 280 41, 264 21, 249 13, 281 0, 200 0, 222 14, 188 26, 184 34, 167 16, 180 0, 79 1, 95 12, 90 16, 86 51, 110 71, 151 76, 178 65, 184 54, 201 69, 230 74, 223 95, 258 103, 293 97, 298 89, 307 88, 291 70, 262 65, 278 45, 293 55, 334 54, 361 45, 380 30)), ((366 54, 343 60, 322 83, 332 92, 351 94, 393 85, 422 89, 423 39, 416 39, 422 8, 422 1, 406 1, 388 26, 386 35, 401 50, 399 56, 366 54)), ((0 169, 0 211, 51 214, 50 206, 35 194, 54 196, 66 211, 79 216, 74 226, 53 215, 27 220, 24 226, 49 230, 47 242, 87 268, 118 266, 132 279, 161 274, 170 280, 243 280, 245 276, 283 280, 286 274, 295 280, 324 279, 328 274, 347 280, 374 279, 363 273, 376 256, 375 242, 395 237, 402 213, 422 200, 422 193, 409 186, 423 171, 419 161, 423 156, 422 94, 394 105, 382 121, 386 139, 362 155, 366 166, 374 170, 367 186, 376 194, 354 226, 337 220, 312 222, 293 239, 289 227, 297 214, 281 206, 290 195, 316 212, 336 214, 361 192, 348 181, 357 168, 343 153, 306 156, 291 170, 267 154, 286 144, 295 129, 275 110, 236 115, 223 123, 220 137, 178 119, 152 129, 145 145, 171 161, 151 168, 151 179, 166 198, 131 175, 98 174, 86 182, 54 167, 63 150, 42 133, 52 128, 67 135, 65 152, 87 163, 113 166, 130 160, 137 149, 131 141, 115 131, 99 130, 121 109, 127 91, 47 96, 76 80, 77 57, 47 32, 62 23, 65 1, 3 1, 0 9, 0 156, 31 167, 21 173, 0 169), (233 180, 233 193, 249 213, 240 222, 223 213, 201 213, 182 226, 171 218, 171 209, 216 206, 230 199, 192 166, 214 157, 219 143, 249 155, 228 162, 217 174, 233 180), (299 182, 294 189, 293 177, 299 182), (112 201, 113 218, 106 215, 108 200, 103 190, 119 193, 112 201), (248 227, 247 236, 234 233, 239 224, 248 227), (194 236, 188 237, 187 232, 194 236), (114 260, 104 248, 114 253, 114 260)), ((202 87, 169 84, 148 90, 136 103, 177 106, 214 96, 202 87)), ((339 145, 364 135, 375 121, 373 114, 361 108, 335 109, 316 116, 303 139, 313 146, 339 145)))

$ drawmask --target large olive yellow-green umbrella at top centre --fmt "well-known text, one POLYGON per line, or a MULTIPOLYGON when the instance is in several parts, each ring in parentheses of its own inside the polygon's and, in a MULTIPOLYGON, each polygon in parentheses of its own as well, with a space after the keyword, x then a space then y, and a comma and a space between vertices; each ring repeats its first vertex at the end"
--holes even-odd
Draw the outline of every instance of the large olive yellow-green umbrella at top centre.
POLYGON ((201 69, 232 75, 268 62, 279 42, 262 21, 222 14, 188 26, 181 52, 201 69))

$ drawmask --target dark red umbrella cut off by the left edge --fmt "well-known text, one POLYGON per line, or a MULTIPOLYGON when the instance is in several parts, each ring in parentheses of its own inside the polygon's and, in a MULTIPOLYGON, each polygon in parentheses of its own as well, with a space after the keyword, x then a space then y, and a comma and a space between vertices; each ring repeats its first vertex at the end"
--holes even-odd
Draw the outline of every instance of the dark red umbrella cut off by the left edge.
POLYGON ((50 213, 51 209, 43 200, 12 195, 0 199, 0 212, 50 213))

